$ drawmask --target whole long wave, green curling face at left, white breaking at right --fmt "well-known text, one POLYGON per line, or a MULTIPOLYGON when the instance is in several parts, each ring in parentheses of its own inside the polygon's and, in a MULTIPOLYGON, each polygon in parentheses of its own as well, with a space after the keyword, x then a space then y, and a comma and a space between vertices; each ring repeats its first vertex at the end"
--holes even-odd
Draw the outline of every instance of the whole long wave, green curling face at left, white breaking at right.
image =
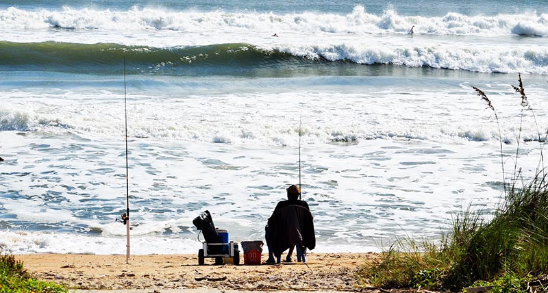
POLYGON ((187 69, 208 67, 208 73, 238 74, 241 68, 393 65, 464 70, 479 73, 548 75, 547 47, 457 47, 439 45, 371 46, 368 44, 278 45, 211 44, 156 48, 121 44, 0 41, 1 66, 59 68, 64 71, 119 73, 125 55, 128 74, 188 75, 187 69))

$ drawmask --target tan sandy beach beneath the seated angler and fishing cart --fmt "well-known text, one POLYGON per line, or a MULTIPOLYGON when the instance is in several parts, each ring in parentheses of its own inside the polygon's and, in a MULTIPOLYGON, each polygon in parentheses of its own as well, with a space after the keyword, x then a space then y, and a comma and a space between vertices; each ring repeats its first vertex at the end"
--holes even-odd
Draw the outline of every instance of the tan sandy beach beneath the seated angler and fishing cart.
MULTIPOLYGON (((306 264, 214 265, 197 255, 17 255, 34 277, 79 290, 356 291, 353 273, 375 253, 309 253, 306 264)), ((267 255, 262 255, 262 261, 267 255)), ((295 257, 295 256, 294 256, 295 257)))

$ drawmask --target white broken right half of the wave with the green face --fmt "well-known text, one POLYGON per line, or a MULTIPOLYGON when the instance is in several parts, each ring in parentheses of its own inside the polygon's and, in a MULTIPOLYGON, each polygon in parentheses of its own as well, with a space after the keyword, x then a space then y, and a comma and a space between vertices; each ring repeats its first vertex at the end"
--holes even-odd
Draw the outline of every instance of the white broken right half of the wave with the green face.
POLYGON ((280 44, 273 48, 306 58, 351 60, 358 64, 395 64, 447 68, 480 73, 534 73, 548 75, 546 47, 493 48, 469 44, 280 44))

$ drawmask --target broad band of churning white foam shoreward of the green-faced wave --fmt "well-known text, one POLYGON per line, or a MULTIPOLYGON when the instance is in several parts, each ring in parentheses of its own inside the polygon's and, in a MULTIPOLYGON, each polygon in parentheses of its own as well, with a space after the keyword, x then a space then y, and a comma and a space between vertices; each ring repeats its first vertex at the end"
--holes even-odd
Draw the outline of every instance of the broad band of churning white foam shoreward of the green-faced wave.
MULTIPOLYGON (((534 89, 531 89, 534 92, 534 89)), ((503 92, 503 90, 501 90, 503 92)), ((466 97, 471 92, 463 88, 460 95, 466 97)), ((32 93, 29 99, 33 99, 32 93)), ((40 102, 19 103, 18 98, 1 94, 0 120, 4 130, 15 131, 54 131, 57 133, 72 132, 83 137, 113 137, 123 133, 123 104, 114 102, 122 99, 119 94, 105 94, 101 100, 97 95, 88 97, 86 93, 70 92, 67 97, 75 99, 62 104, 52 97, 37 93, 40 102)), ((103 93, 104 94, 104 93, 103 93)), ((425 91, 409 96, 391 90, 379 90, 375 97, 361 93, 337 94, 337 97, 325 98, 332 93, 325 92, 279 92, 270 94, 217 94, 208 96, 192 95, 184 99, 164 98, 160 101, 149 101, 146 97, 129 94, 136 102, 129 106, 129 136, 138 138, 155 138, 167 140, 185 140, 214 142, 220 144, 284 146, 295 145, 295 115, 287 112, 286 105, 300 101, 313 116, 303 116, 305 125, 302 142, 304 144, 325 144, 334 141, 366 140, 370 138, 420 139, 434 142, 462 142, 464 140, 497 140, 499 132, 495 123, 477 125, 472 123, 474 116, 485 116, 483 108, 469 109, 469 103, 452 102, 451 96, 442 96, 443 104, 432 103, 432 95, 425 91), (141 100, 142 101, 138 101, 141 100), (333 107, 331 99, 343 99, 355 105, 351 109, 341 110, 333 107), (184 109, 180 105, 184 103, 184 109), (364 104, 366 103, 366 105, 364 104), (386 104, 392 106, 387 106, 386 104), (398 105, 396 105, 398 104, 398 105), (268 105, 268 107, 264 107, 268 105), (401 105, 406 105, 402 107, 401 105), (408 112, 410 108, 414 112, 408 112), (364 112, 364 110, 367 110, 364 112), (438 112, 449 114, 462 112, 439 124, 438 118, 427 118, 423 113, 438 112), (162 112, 162 118, 158 113, 162 112), (287 114, 280 115, 279 113, 287 114), (211 116, 210 113, 216 113, 211 116), (398 114, 404 119, 393 120, 391 114, 398 114), (462 116, 462 117, 461 117, 462 116), (151 124, 151 121, 153 123, 151 124), (376 121, 373 125, 371 121, 376 121), (222 127, 221 127, 222 126, 222 127)), ((512 94, 507 92, 507 94, 512 94)), ((454 95, 454 94, 453 94, 454 95)), ((454 98, 453 98, 454 99, 454 98)), ((464 98, 461 98, 464 99, 464 98)), ((507 98, 512 101, 511 98, 507 98)), ((460 101, 460 100, 457 100, 460 101)), ((538 100, 541 102, 542 100, 538 100)), ((509 105, 498 105, 501 110, 512 109, 509 105)), ((544 105, 540 103, 539 108, 544 105)), ((547 105, 548 107, 548 105, 547 105)), ((295 113, 293 113, 295 114, 295 113)), ((454 114, 451 114, 453 116, 454 114)), ((499 113, 503 116, 503 112, 499 113)), ((502 136, 505 141, 514 141, 519 128, 513 118, 501 119, 502 136)), ((543 125, 544 117, 539 116, 538 125, 543 125)), ((538 131, 534 124, 523 125, 521 136, 538 140, 538 131)))

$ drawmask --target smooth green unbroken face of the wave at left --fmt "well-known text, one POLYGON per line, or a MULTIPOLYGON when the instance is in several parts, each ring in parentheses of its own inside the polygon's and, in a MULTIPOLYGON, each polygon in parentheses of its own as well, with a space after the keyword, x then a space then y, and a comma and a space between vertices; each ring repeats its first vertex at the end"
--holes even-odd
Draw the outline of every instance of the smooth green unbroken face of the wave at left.
POLYGON ((0 42, 0 66, 56 68, 119 68, 126 63, 140 71, 192 66, 269 66, 280 62, 307 62, 279 51, 251 44, 214 44, 198 47, 156 48, 121 44, 68 42, 0 42))

